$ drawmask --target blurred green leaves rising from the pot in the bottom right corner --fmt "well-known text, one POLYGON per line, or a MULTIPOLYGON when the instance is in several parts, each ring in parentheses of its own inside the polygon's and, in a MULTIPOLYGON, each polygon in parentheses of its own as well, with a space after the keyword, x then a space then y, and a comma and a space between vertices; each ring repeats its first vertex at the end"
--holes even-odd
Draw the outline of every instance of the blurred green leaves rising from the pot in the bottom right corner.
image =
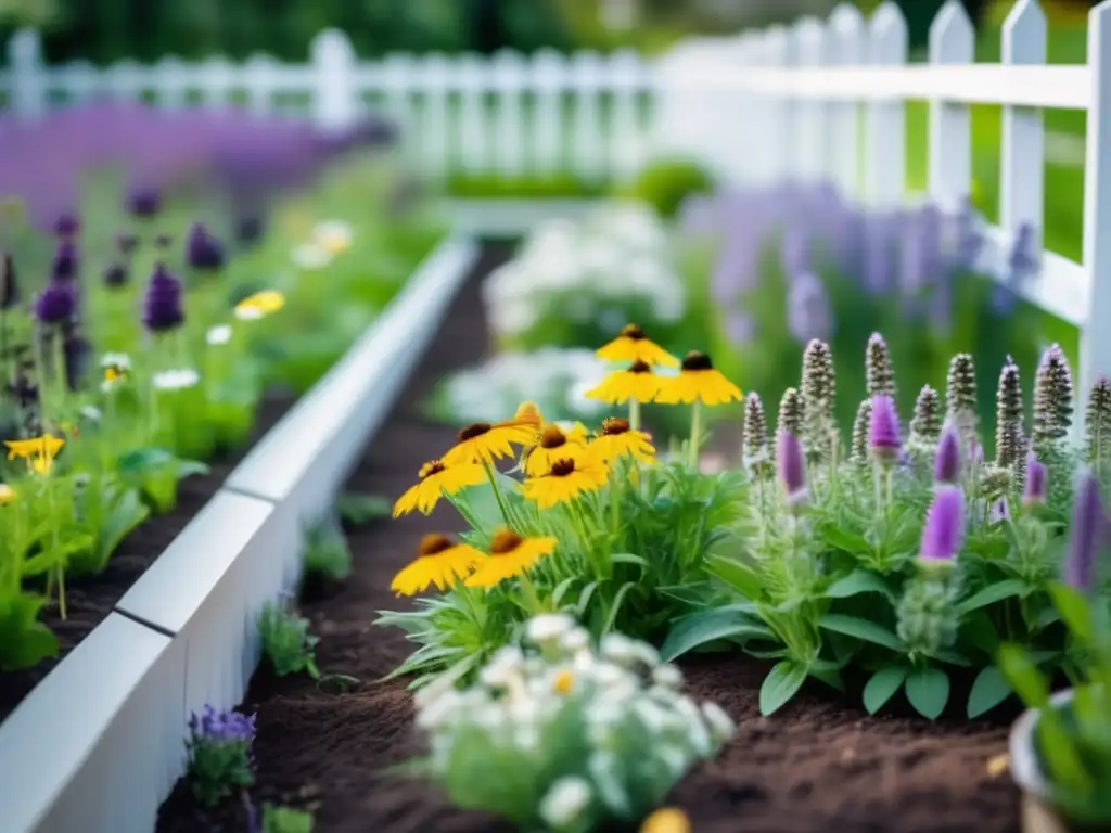
POLYGON ((1050 800, 1083 829, 1111 824, 1111 611, 1105 595, 1051 586, 1054 610, 1069 632, 1065 668, 1070 695, 1050 697, 1052 666, 1022 645, 1000 646, 1002 676, 1038 710, 1033 752, 1050 800), (1040 668, 1041 666, 1041 668, 1040 668))

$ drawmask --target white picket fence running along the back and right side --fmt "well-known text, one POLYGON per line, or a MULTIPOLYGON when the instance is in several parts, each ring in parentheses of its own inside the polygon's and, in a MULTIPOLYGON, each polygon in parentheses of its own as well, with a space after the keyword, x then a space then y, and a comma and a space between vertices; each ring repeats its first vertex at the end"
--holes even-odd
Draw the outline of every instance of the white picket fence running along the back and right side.
POLYGON ((924 197, 952 209, 971 190, 970 106, 1003 108, 999 228, 981 265, 1002 277, 1023 225, 1044 212, 1042 108, 1088 117, 1083 259, 1044 252, 1027 298, 1082 329, 1081 385, 1111 374, 1111 0, 1091 11, 1088 62, 1045 66, 1045 18, 1018 0, 1002 32, 1002 62, 974 63, 974 31, 958 0, 930 30, 928 62, 909 66, 907 24, 885 2, 869 19, 852 6, 828 20, 733 38, 691 40, 657 61, 553 52, 360 62, 337 31, 311 61, 256 57, 241 66, 167 58, 98 70, 43 64, 38 36, 17 33, 0 94, 37 116, 98 94, 164 108, 240 103, 259 113, 310 113, 342 128, 368 112, 397 119, 406 152, 432 175, 450 171, 621 177, 650 154, 695 155, 734 183, 833 182, 868 204, 908 200, 904 102, 930 103, 924 197))

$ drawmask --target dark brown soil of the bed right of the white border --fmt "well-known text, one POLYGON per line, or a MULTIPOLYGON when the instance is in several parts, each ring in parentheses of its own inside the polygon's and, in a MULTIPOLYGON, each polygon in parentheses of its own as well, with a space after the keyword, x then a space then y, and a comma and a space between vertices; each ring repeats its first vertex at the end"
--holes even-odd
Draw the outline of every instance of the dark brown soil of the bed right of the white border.
MULTIPOLYGON (((500 262, 489 253, 482 271, 500 262)), ((350 488, 394 495, 417 468, 448 448, 453 430, 418 419, 434 381, 472 364, 486 351, 478 288, 472 280, 453 304, 439 338, 402 401, 372 442, 350 488)), ((376 683, 409 653, 394 631, 372 626, 376 611, 404 604, 388 585, 420 535, 459 530, 450 508, 353 530, 356 573, 333 595, 304 605, 321 636, 323 673, 351 674, 353 692, 330 693, 302 678, 258 673, 244 710, 258 713, 257 804, 313 809, 324 833, 493 833, 512 830, 453 810, 436 790, 382 775, 420 751, 404 682, 376 683)), ((685 663, 692 693, 721 704, 739 722, 737 737, 712 762, 689 774, 670 803, 687 811, 698 833, 792 831, 1018 830, 1018 795, 988 761, 1005 749, 1002 726, 967 721, 930 723, 869 717, 821 690, 761 719, 758 692, 767 668, 739 655, 702 655, 685 663)), ((474 773, 482 777, 482 773, 474 773)), ((246 812, 230 802, 214 812, 193 804, 184 784, 162 807, 162 833, 242 831, 246 812)))

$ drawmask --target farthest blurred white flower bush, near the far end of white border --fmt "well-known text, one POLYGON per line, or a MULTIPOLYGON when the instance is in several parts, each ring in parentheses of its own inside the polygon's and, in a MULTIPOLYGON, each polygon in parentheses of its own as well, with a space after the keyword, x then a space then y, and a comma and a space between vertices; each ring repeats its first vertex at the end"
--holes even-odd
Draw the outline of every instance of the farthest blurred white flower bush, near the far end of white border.
POLYGON ((504 335, 553 317, 615 332, 634 308, 648 327, 679 320, 687 302, 665 227, 647 207, 621 202, 581 222, 540 225, 482 291, 491 327, 504 335))

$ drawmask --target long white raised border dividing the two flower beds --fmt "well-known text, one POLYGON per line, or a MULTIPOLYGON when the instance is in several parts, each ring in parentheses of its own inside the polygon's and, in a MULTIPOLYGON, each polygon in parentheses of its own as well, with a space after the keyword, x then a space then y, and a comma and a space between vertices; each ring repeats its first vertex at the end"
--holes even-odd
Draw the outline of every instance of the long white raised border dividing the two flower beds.
POLYGON ((441 243, 343 359, 252 449, 89 636, 0 723, 4 833, 143 833, 186 766, 186 723, 241 702, 254 618, 292 590, 332 503, 479 253, 441 243))

